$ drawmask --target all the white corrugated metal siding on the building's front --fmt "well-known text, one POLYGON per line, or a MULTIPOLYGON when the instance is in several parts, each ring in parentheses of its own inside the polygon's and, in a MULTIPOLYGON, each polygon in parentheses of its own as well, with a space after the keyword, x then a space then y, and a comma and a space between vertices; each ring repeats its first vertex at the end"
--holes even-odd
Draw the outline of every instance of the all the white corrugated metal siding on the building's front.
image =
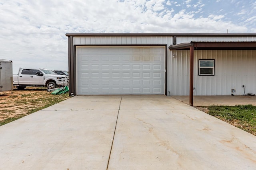
MULTIPOLYGON (((75 36, 74 45, 172 45, 172 36, 75 36)), ((177 36, 190 41, 256 41, 246 36, 177 36)), ((189 51, 167 49, 167 95, 189 95, 189 51), (173 57, 173 54, 175 57, 173 57)), ((256 51, 194 51, 194 95, 256 94, 256 51), (214 76, 198 76, 198 60, 215 59, 214 76)))

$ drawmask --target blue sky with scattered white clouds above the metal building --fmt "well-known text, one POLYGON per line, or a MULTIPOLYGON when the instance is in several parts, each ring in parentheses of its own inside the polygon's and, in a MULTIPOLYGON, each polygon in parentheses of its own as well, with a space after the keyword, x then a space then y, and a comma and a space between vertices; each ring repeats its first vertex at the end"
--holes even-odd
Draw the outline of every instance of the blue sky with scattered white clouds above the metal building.
POLYGON ((68 70, 66 33, 256 33, 256 0, 0 0, 0 59, 68 70))

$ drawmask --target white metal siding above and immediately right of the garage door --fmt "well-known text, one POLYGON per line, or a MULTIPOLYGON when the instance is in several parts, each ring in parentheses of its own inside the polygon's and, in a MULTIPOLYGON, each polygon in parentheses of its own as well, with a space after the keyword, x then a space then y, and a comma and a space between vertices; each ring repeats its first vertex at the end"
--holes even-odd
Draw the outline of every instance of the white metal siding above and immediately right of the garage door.
MULTIPOLYGON (((169 45, 173 44, 172 36, 77 36, 74 45, 169 45)), ((167 95, 171 95, 172 51, 167 49, 167 95)))

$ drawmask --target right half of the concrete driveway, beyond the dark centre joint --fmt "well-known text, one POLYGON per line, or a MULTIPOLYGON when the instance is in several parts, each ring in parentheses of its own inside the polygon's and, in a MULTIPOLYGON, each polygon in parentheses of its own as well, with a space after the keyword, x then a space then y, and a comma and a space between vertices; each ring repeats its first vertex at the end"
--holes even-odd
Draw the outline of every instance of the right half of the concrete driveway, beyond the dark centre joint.
POLYGON ((256 167, 255 136, 187 106, 168 96, 123 96, 108 169, 256 167))

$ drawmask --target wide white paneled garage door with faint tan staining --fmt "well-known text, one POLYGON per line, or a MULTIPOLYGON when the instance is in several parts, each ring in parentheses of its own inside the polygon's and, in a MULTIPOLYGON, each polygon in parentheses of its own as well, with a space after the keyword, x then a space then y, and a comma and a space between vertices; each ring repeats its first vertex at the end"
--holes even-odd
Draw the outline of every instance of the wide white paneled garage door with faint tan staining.
POLYGON ((164 94, 165 47, 76 47, 77 94, 164 94))

